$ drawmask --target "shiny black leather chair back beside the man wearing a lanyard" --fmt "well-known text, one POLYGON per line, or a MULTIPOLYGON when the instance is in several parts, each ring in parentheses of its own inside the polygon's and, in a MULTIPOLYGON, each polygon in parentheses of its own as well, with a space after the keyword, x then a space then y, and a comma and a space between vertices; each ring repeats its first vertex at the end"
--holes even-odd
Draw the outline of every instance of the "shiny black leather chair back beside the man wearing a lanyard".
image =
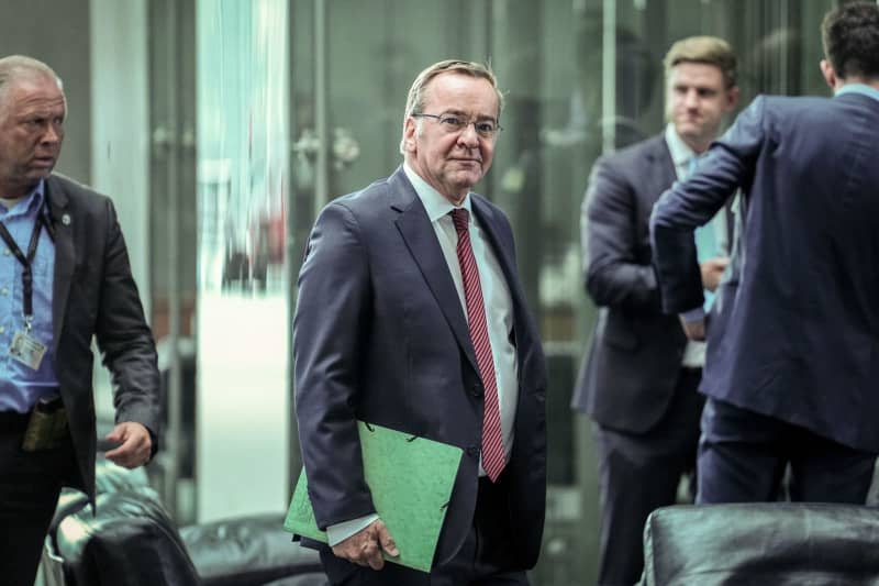
POLYGON ((200 583, 174 521, 148 487, 98 495, 97 515, 86 507, 66 517, 56 541, 69 585, 200 583))

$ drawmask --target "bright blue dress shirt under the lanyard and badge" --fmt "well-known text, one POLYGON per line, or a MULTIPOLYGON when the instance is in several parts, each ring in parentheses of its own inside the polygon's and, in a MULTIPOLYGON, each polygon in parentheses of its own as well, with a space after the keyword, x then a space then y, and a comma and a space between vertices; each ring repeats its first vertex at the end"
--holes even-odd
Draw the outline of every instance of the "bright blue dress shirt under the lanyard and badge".
MULTIPOLYGON (((26 255, 38 214, 45 200, 44 181, 24 199, 7 210, 0 206, 3 222, 12 240, 26 255)), ((33 270, 34 320, 31 335, 48 349, 37 371, 9 355, 15 332, 24 330, 22 264, 5 241, 0 240, 0 411, 26 412, 41 398, 56 391, 52 334, 52 284, 55 269, 55 244, 45 226, 40 233, 33 270)))

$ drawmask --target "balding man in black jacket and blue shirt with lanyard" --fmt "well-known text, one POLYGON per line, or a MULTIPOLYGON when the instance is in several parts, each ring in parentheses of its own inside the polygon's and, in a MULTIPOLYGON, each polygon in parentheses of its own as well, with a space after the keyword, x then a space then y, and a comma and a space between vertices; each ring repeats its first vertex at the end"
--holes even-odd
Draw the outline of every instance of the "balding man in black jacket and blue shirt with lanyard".
POLYGON ((155 451, 158 369, 112 202, 51 175, 66 100, 45 64, 0 59, 0 582, 31 586, 62 485, 93 504, 91 340, 113 375, 107 457, 155 451))

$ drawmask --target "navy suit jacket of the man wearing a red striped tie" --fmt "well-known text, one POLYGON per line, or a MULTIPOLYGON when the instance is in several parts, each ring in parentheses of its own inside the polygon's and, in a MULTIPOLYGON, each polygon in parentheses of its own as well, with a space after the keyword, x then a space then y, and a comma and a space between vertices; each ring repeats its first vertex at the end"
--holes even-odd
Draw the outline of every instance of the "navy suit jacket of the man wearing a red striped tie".
MULTIPOLYGON (((472 209, 513 302, 519 402, 504 483, 516 559, 526 568, 537 560, 544 521, 546 369, 510 224, 479 196, 472 209)), ((293 354, 299 436, 318 524, 375 511, 355 424, 365 420, 464 450, 434 562, 448 560, 472 527, 482 384, 452 274, 402 168, 331 202, 318 218, 299 276, 293 354)))

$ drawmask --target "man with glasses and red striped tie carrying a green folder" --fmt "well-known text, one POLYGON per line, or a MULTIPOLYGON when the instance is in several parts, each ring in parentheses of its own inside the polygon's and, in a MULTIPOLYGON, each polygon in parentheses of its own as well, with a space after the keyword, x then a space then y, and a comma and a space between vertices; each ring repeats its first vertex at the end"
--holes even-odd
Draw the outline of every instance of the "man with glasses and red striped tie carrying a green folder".
POLYGON ((393 175, 330 203, 299 276, 302 458, 333 584, 527 584, 543 533, 546 372, 503 212, 471 187, 502 97, 486 67, 432 65, 409 92, 393 175), (454 220, 453 220, 454 217, 454 220), (459 446, 431 574, 386 564, 357 420, 459 446))

